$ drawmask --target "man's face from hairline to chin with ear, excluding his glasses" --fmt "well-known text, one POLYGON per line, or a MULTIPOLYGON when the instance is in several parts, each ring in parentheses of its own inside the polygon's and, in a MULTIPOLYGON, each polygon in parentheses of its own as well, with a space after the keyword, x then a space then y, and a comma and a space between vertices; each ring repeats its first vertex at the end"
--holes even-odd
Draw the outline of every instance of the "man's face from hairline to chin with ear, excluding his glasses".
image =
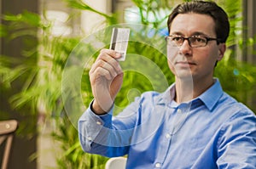
MULTIPOLYGON (((172 21, 170 36, 216 38, 215 23, 207 14, 177 14, 172 21)), ((180 47, 167 46, 168 65, 179 79, 212 80, 214 65, 223 58, 224 43, 208 41, 205 47, 192 48, 184 40, 180 47)))

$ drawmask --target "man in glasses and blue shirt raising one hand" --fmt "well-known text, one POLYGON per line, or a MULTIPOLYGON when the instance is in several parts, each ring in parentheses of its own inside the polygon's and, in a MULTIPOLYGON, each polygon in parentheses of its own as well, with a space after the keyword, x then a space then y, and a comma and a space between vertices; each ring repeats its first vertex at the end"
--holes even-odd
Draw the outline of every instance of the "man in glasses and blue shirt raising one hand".
POLYGON ((164 93, 143 93, 114 118, 120 54, 102 49, 90 70, 95 99, 79 119, 82 148, 127 155, 126 168, 255 168, 256 117, 213 78, 230 31, 227 14, 212 2, 182 3, 167 25, 175 83, 164 93))

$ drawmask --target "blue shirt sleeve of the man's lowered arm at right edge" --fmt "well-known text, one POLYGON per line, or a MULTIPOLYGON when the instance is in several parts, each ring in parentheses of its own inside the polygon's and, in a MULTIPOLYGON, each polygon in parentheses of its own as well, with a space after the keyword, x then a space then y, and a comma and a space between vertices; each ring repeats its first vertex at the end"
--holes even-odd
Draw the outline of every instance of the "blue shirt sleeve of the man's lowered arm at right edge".
POLYGON ((256 167, 256 117, 236 113, 225 123, 218 140, 218 168, 256 167))

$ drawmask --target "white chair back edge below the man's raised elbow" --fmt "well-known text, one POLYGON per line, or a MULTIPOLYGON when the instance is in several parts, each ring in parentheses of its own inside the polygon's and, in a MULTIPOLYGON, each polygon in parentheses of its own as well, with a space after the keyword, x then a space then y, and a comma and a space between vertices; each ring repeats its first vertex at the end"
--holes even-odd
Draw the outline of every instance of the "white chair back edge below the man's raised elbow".
POLYGON ((110 158, 105 166, 105 169, 125 169, 127 158, 113 157, 110 158))

